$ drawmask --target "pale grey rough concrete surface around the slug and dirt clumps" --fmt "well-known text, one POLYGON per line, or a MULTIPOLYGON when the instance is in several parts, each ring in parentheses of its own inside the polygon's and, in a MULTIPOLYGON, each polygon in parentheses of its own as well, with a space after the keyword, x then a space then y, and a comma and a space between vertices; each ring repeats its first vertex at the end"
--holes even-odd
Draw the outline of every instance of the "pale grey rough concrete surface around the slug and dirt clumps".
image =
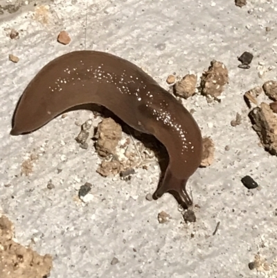
POLYGON ((53 255, 51 277, 277 277, 273 267, 265 273, 248 267, 255 254, 269 264, 277 256, 277 159, 259 146, 242 98, 248 89, 276 80, 276 4, 253 0, 238 8, 233 0, 59 0, 1 22, 0 206, 14 222, 20 243, 53 255), (271 31, 265 31, 267 26, 271 31), (10 28, 19 31, 19 40, 10 40, 10 28), (56 42, 64 29, 72 39, 68 46, 56 42), (84 45, 135 62, 166 88, 170 73, 200 76, 213 59, 226 64, 230 82, 222 103, 208 104, 199 95, 184 101, 216 146, 214 164, 200 168, 189 182, 200 206, 196 223, 184 223, 170 195, 145 200, 159 179, 154 164, 148 171, 138 169, 129 182, 96 173, 100 159, 93 148, 82 150, 74 140, 80 131, 75 121, 84 122, 91 112, 71 112, 26 136, 9 135, 15 104, 35 73, 84 45), (237 56, 244 51, 254 55, 249 70, 238 69, 237 56), (8 60, 10 53, 19 57, 17 64, 8 60), (262 79, 259 62, 271 67, 262 79), (243 120, 233 128, 237 112, 243 120), (32 153, 38 159, 26 177, 21 164, 32 153), (261 190, 247 191, 240 182, 244 175, 261 190), (51 191, 49 180, 55 184, 51 191), (94 198, 76 205, 84 182, 95 186, 94 198), (168 223, 158 223, 160 211, 170 214, 168 223), (111 265, 114 257, 119 262, 111 265))

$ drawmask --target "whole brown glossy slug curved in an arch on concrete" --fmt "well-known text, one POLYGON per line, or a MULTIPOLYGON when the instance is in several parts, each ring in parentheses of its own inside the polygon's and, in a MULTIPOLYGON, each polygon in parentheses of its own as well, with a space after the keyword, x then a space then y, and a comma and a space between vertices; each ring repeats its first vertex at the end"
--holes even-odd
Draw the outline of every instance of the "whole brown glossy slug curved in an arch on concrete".
POLYGON ((188 208, 188 178, 202 160, 202 135, 177 99, 132 62, 100 51, 73 51, 48 62, 21 95, 10 134, 33 132, 78 105, 96 103, 166 146, 169 163, 154 199, 172 193, 188 208))

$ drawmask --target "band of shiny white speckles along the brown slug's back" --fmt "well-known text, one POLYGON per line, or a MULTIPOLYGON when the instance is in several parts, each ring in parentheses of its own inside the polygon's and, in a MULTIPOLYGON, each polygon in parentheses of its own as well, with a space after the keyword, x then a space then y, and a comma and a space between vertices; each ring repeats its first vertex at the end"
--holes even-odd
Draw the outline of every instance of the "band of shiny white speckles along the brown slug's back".
MULTIPOLYGON (((82 62, 82 61, 80 61, 82 62)), ((141 102, 142 105, 148 107, 148 110, 153 107, 154 104, 155 109, 152 109, 152 116, 154 119, 159 122, 159 125, 166 125, 172 132, 175 132, 181 141, 180 153, 183 155, 184 153, 190 151, 194 151, 194 146, 191 142, 187 141, 186 131, 183 129, 183 125, 177 123, 177 119, 170 112, 168 112, 169 103, 163 98, 155 99, 156 94, 152 94, 155 92, 151 92, 148 90, 149 85, 145 82, 143 78, 140 76, 133 76, 126 74, 126 70, 123 69, 121 73, 116 74, 114 72, 106 72, 102 67, 104 64, 97 65, 96 67, 89 65, 89 67, 82 69, 80 68, 66 68, 64 72, 68 74, 72 74, 68 78, 64 78, 64 76, 59 77, 55 80, 55 87, 49 87, 52 92, 61 92, 63 88, 65 88, 65 84, 69 83, 69 85, 82 85, 84 87, 86 83, 85 80, 91 80, 96 83, 104 83, 109 85, 114 85, 114 87, 118 90, 120 94, 126 94, 128 96, 133 96, 137 101, 141 102), (78 78, 75 78, 78 76, 78 78), (73 82, 74 80, 77 80, 73 82), (62 86, 62 88, 60 87, 62 86), (190 148, 188 148, 190 146, 190 148)), ((168 132, 171 132, 171 131, 168 132)))

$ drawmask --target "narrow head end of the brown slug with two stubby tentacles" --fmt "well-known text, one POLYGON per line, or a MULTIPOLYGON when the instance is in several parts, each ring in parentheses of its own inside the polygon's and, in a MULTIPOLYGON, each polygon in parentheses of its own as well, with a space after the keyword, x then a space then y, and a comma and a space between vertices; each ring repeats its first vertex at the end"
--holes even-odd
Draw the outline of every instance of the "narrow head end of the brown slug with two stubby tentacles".
POLYGON ((161 198, 164 193, 170 193, 175 197, 179 205, 184 209, 188 209, 191 205, 193 205, 193 201, 186 191, 186 182, 185 179, 179 179, 172 174, 172 171, 168 167, 166 170, 166 174, 163 177, 163 182, 161 186, 155 191, 154 199, 161 198))

